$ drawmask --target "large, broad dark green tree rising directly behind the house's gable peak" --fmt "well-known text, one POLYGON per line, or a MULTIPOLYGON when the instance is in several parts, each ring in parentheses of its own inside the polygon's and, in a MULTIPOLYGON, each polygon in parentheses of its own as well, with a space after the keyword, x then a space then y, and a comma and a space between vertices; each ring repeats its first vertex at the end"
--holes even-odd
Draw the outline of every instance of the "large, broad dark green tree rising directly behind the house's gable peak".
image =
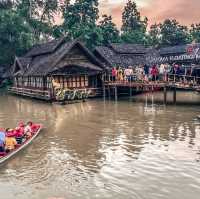
POLYGON ((64 22, 57 27, 57 34, 67 35, 70 39, 79 38, 89 48, 99 45, 102 41, 101 29, 96 25, 98 15, 98 0, 76 0, 62 8, 64 22))

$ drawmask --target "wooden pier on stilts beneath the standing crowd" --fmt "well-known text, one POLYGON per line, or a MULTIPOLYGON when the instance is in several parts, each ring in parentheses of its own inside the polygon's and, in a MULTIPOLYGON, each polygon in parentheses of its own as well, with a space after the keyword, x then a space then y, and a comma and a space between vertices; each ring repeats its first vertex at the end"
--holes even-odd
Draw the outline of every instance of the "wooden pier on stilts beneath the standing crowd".
POLYGON ((126 96, 132 97, 133 93, 144 93, 144 92, 163 92, 163 102, 167 104, 167 93, 168 91, 173 92, 173 103, 177 101, 177 91, 199 91, 200 90, 200 79, 191 76, 180 76, 173 75, 173 78, 168 78, 167 81, 105 81, 103 84, 103 97, 109 99, 113 97, 115 100, 121 95, 121 89, 126 90, 126 96), (194 81, 186 82, 188 78, 195 78, 194 81), (185 81, 183 81, 185 80, 185 81))

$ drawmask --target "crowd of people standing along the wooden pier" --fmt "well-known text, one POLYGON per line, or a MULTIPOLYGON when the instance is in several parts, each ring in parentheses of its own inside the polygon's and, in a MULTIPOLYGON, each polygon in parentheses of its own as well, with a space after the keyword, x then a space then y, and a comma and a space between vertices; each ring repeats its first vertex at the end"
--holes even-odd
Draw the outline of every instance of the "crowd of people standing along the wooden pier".
POLYGON ((113 67, 111 81, 167 81, 170 75, 192 76, 193 67, 184 67, 179 64, 138 65, 127 68, 113 67))

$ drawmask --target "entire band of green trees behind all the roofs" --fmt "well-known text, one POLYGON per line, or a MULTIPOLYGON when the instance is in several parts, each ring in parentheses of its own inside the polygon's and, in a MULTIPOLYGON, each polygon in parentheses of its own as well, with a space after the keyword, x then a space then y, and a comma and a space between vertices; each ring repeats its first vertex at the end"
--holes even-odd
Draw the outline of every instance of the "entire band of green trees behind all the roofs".
POLYGON ((0 65, 13 63, 32 45, 65 36, 79 39, 93 49, 97 45, 124 42, 154 47, 200 42, 200 24, 190 27, 166 19, 149 27, 137 4, 128 0, 122 26, 112 16, 99 15, 98 0, 5 0, 0 2, 0 65), (55 24, 55 17, 61 23, 55 24), (3 50, 2 50, 3 49, 3 50))

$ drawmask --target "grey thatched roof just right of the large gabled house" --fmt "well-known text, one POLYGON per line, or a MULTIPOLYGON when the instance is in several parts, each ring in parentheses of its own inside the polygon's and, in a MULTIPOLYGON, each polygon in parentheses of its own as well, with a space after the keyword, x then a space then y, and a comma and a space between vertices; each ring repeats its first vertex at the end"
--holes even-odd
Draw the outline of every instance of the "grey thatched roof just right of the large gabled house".
POLYGON ((136 44, 111 44, 109 46, 99 46, 94 54, 104 65, 128 67, 145 63, 147 49, 136 44))

